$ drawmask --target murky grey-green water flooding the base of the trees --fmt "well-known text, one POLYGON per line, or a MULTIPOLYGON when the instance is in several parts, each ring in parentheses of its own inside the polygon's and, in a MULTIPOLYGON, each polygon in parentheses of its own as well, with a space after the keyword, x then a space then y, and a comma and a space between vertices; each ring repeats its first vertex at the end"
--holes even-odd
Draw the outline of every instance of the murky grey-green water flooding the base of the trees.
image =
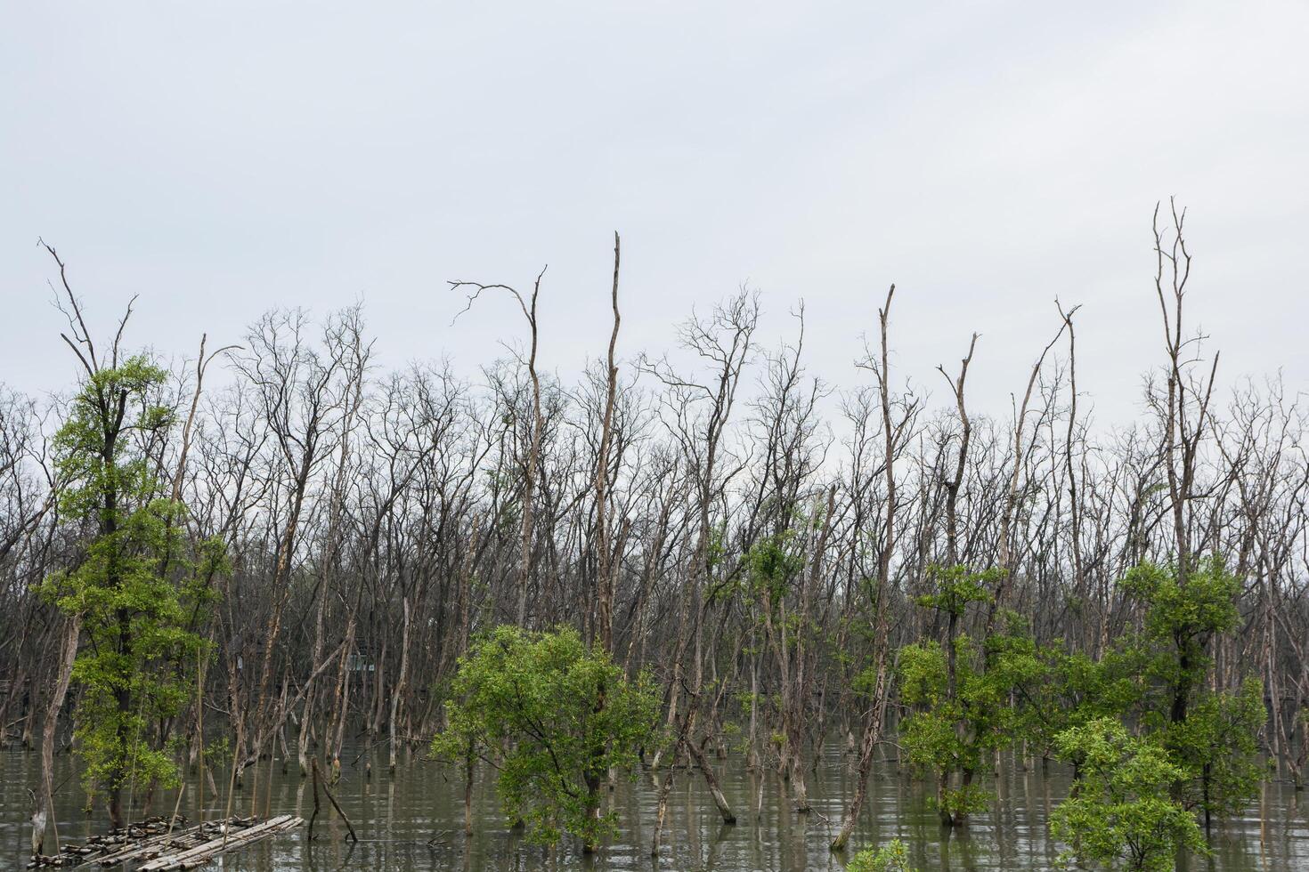
MULTIPOLYGON (((622 834, 596 858, 584 858, 572 843, 555 851, 525 845, 500 817, 495 791, 479 780, 474 794, 478 831, 466 839, 463 794, 457 775, 415 753, 404 758, 395 778, 386 774, 385 754, 359 752, 343 757, 342 783, 335 788, 342 807, 359 833, 360 843, 346 841, 346 829, 329 813, 319 816, 317 838, 296 830, 233 854, 211 868, 271 872, 274 869, 839 869, 827 851, 839 825, 842 808, 853 791, 848 758, 830 753, 810 779, 814 813, 792 811, 785 786, 764 775, 763 801, 757 807, 759 780, 736 760, 720 761, 724 791, 736 808, 738 824, 724 826, 698 773, 677 771, 670 799, 662 856, 649 856, 651 824, 657 790, 651 775, 620 782, 613 803, 622 818, 622 834), (373 777, 365 777, 372 758, 373 777), (323 816, 326 814, 326 820, 323 816)), ((56 783, 68 778, 71 761, 59 758, 56 783)), ((0 750, 0 869, 22 868, 29 839, 27 784, 35 784, 37 754, 0 750)), ((272 813, 295 812, 305 817, 313 808, 312 787, 295 773, 274 770, 272 813)), ((260 778, 267 765, 260 766, 260 778)), ((81 795, 69 779, 60 791, 59 834, 81 839, 102 831, 102 813, 88 818, 80 809, 81 795)), ((893 766, 873 775, 869 801, 855 834, 855 847, 901 838, 911 846, 923 869, 1049 869, 1058 846, 1046 834, 1050 811, 1067 790, 1067 777, 1042 775, 1005 767, 997 779, 1000 801, 988 814, 974 818, 966 833, 940 828, 927 804, 925 786, 901 778, 893 766)), ((249 791, 237 796, 237 807, 249 811, 249 791)), ((260 790, 260 804, 263 791, 260 790)), ((1238 820, 1227 822, 1212 839, 1213 856, 1194 860, 1192 869, 1247 872, 1254 869, 1309 869, 1309 797, 1289 786, 1268 783, 1259 800, 1238 820)), ((166 805, 170 809, 173 797, 166 805)), ((208 797, 211 817, 221 816, 223 803, 208 797)), ((326 807, 326 799, 323 800, 326 807)), ((156 807, 156 812, 166 811, 156 807)), ((194 784, 183 799, 183 812, 196 817, 194 784)))

